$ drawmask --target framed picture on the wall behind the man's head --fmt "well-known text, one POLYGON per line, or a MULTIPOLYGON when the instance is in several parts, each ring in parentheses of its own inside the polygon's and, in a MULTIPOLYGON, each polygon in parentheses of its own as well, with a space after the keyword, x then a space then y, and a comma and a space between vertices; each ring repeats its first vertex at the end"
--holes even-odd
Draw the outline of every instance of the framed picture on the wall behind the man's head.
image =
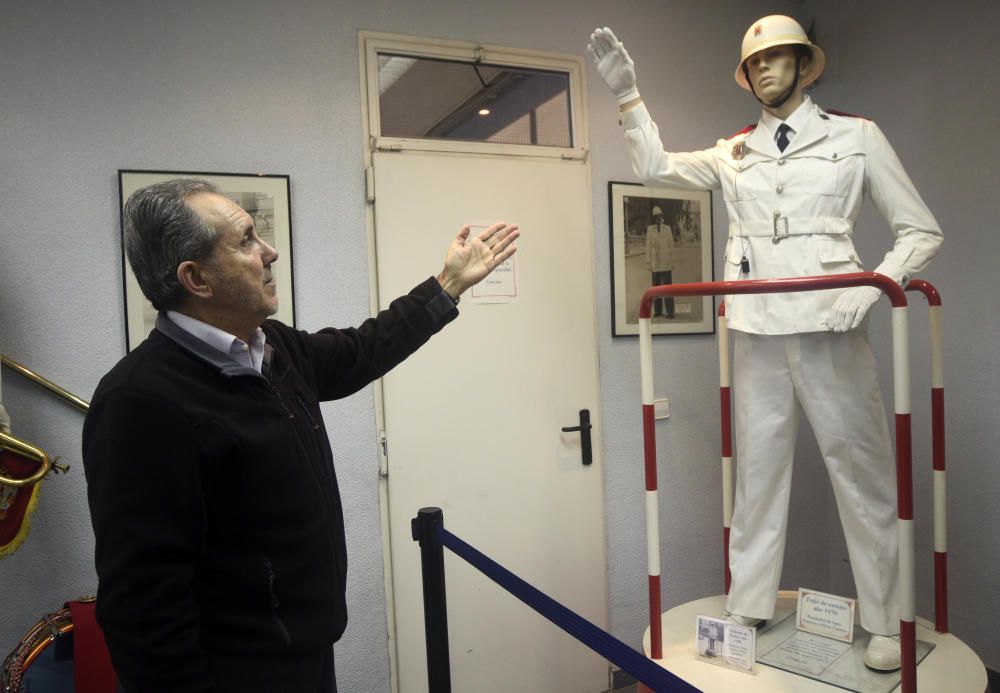
MULTIPOLYGON (((278 294, 278 312, 273 316, 286 325, 295 325, 292 290, 292 215, 289 181, 286 175, 251 173, 200 173, 193 171, 118 171, 122 208, 133 192, 153 183, 173 178, 199 178, 219 186, 222 194, 253 217, 262 239, 278 251, 272 268, 278 294)), ((156 322, 156 310, 142 295, 139 282, 125 257, 122 242, 122 276, 125 285, 126 347, 129 351, 149 335, 156 322)))

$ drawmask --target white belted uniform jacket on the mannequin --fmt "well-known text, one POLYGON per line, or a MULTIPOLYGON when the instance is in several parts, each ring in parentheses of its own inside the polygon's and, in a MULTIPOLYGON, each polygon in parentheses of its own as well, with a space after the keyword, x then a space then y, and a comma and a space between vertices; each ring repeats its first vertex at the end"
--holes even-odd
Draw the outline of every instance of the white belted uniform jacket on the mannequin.
MULTIPOLYGON (((622 114, 632 167, 643 182, 722 190, 729 213, 725 280, 775 279, 864 270, 854 222, 865 193, 889 222, 895 243, 875 268, 900 285, 941 245, 941 229, 878 126, 827 113, 806 97, 796 134, 778 150, 763 122, 715 147, 663 150, 644 104, 622 114), (743 258, 750 272, 740 273, 743 258)), ((726 297, 729 327, 757 334, 827 331, 842 290, 726 297)))

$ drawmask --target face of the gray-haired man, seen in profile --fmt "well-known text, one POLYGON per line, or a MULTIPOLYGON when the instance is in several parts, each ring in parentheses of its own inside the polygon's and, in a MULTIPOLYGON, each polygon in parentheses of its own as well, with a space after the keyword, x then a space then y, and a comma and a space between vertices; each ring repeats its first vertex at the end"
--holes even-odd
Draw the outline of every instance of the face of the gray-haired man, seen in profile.
POLYGON ((215 248, 204 262, 212 286, 213 306, 233 322, 255 329, 278 311, 271 263, 278 253, 254 228, 253 218, 235 202, 214 193, 198 193, 188 205, 216 231, 215 248))

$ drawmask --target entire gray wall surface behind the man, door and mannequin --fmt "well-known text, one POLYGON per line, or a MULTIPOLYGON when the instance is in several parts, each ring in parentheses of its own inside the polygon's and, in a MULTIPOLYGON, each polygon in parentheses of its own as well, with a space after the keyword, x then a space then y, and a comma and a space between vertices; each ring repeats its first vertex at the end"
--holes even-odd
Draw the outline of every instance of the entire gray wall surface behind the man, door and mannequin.
MULTIPOLYGON (((1000 511, 990 426, 997 376, 987 363, 997 322, 971 306, 988 296, 1000 241, 987 225, 997 184, 987 32, 995 3, 955 13, 933 3, 905 16, 890 3, 619 3, 519 0, 224 0, 212 3, 59 3, 6 8, 0 22, 0 348, 83 397, 124 353, 118 245, 119 168, 287 173, 292 181, 297 320, 305 328, 353 324, 368 310, 357 31, 371 29, 580 53, 610 24, 638 65, 639 84, 669 145, 700 148, 757 117, 731 80, 743 31, 774 11, 808 22, 831 60, 821 104, 864 113, 888 133, 948 235, 926 273, 946 314, 952 499, 952 627, 1000 667, 990 618, 1000 616, 991 575, 1000 569, 989 529, 1000 511), (706 9, 710 7, 710 9, 706 9), (961 45, 962 49, 954 48, 961 45), (905 50, 898 46, 907 46, 905 50), (947 120, 946 120, 947 119, 947 120), (956 132, 966 133, 957 144, 956 132), (938 133, 941 133, 940 135, 938 133), (962 237, 976 242, 963 244, 962 237), (985 333, 984 333, 985 330, 985 333), (991 464, 992 463, 992 464, 991 464), (961 537, 960 542, 958 538, 961 537)), ((908 8, 913 5, 908 5, 908 8)), ((588 67, 605 417, 611 625, 638 646, 645 625, 645 550, 634 339, 610 334, 608 180, 634 180, 614 101, 588 67)), ((716 255, 725 212, 715 202, 716 255)), ((874 266, 888 234, 877 215, 862 252, 874 266)), ((451 230, 442 229, 446 238, 451 230)), ((718 262, 717 262, 718 264, 718 262)), ((436 268, 416 271, 414 282, 436 268)), ((884 308, 883 308, 884 309, 884 308)), ((987 308, 988 310, 988 308, 987 308)), ((926 420, 922 330, 914 312, 915 428, 926 420), (923 369, 923 370, 922 370, 923 369), (921 419, 921 417, 924 417, 921 419)), ((980 311, 985 312, 985 311, 980 311)), ((988 314, 988 313, 987 313, 988 314)), ((888 335, 873 330, 888 371, 888 335)), ((721 591, 717 363, 714 338, 659 338, 664 604, 721 591)), ((25 546, 0 562, 0 651, 65 599, 92 592, 93 539, 80 464, 80 415, 9 372, 4 401, 15 432, 73 465, 47 481, 25 546)), ((887 392, 891 393, 888 378, 887 392)), ((388 690, 385 596, 371 390, 328 405, 348 517, 351 624, 337 647, 344 690, 388 690)), ((929 510, 926 436, 915 443, 918 513, 929 510)), ((850 592, 842 538, 825 473, 806 430, 793 499, 783 585, 850 592), (835 551, 828 558, 828 546, 835 551)), ((918 521, 930 555, 929 515, 918 521)), ((920 565, 919 611, 931 614, 930 564, 920 565)))

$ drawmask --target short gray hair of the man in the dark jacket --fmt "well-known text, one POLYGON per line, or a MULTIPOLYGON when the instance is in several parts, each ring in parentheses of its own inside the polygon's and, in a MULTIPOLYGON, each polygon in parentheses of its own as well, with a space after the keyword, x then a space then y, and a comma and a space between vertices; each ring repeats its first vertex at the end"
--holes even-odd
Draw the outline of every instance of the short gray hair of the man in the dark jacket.
POLYGON ((129 195, 122 212, 125 254, 139 288, 157 310, 176 308, 185 290, 177 267, 203 260, 215 247, 215 229, 187 205, 196 193, 219 193, 212 183, 178 178, 154 183, 129 195))

